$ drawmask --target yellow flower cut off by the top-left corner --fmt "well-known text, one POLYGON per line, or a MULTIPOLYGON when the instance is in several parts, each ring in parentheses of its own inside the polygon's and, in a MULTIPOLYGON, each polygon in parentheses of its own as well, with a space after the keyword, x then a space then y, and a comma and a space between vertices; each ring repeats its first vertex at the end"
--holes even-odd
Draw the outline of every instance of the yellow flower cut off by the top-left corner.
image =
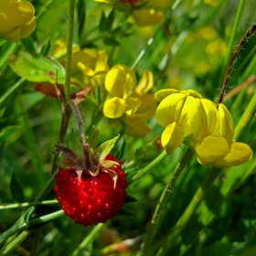
POLYGON ((5 40, 18 42, 35 30, 35 8, 29 2, 0 0, 0 35, 5 40))

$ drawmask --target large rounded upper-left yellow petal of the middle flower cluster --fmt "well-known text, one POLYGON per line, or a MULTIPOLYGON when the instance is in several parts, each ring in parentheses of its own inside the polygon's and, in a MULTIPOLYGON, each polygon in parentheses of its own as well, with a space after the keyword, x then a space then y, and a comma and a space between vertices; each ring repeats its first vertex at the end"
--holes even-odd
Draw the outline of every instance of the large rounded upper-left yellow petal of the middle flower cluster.
POLYGON ((112 96, 126 99, 133 92, 135 85, 135 74, 125 65, 116 65, 107 73, 105 87, 112 96))

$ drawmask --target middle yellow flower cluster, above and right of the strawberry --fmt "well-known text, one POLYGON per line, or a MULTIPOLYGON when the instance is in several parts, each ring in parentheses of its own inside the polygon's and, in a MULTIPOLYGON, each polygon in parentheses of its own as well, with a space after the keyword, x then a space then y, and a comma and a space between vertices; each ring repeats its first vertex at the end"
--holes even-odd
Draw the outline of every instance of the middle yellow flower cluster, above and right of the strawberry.
POLYGON ((131 136, 144 136, 150 128, 144 121, 155 114, 154 94, 146 94, 153 88, 153 74, 146 70, 137 84, 132 69, 125 65, 116 65, 107 73, 105 88, 110 99, 105 101, 104 115, 118 119, 124 131, 131 136))

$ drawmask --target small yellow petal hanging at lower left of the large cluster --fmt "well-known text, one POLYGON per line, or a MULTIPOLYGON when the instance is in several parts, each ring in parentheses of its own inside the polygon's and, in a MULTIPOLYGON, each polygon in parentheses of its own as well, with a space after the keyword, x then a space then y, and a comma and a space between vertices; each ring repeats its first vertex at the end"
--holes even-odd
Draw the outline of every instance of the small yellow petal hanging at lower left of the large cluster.
POLYGON ((165 127, 161 136, 161 144, 165 147, 166 153, 170 155, 183 143, 183 139, 182 128, 174 122, 165 127))

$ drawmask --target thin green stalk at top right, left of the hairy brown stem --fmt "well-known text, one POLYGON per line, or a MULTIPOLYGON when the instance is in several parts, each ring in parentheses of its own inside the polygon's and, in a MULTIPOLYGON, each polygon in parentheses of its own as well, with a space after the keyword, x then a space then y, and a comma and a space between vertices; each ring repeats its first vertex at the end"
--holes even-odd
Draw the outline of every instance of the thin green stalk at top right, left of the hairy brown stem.
MULTIPOLYGON (((227 48, 225 59, 223 61, 223 66, 222 66, 221 73, 220 73, 220 79, 222 79, 224 77, 225 69, 226 69, 226 67, 228 66, 228 63, 229 63, 229 54, 230 54, 230 52, 232 52, 232 48, 233 48, 233 45, 234 45, 234 40, 235 40, 235 36, 236 36, 236 33, 237 33, 237 29, 239 27, 240 18, 241 18, 241 14, 242 14, 244 4, 245 4, 245 0, 240 0, 238 10, 237 10, 237 13, 236 13, 236 17, 235 17, 235 22, 233 24, 231 35, 230 35, 230 38, 229 38, 229 45, 228 45, 228 48, 227 48)), ((219 81, 219 84, 220 84, 220 82, 221 81, 219 81)))

